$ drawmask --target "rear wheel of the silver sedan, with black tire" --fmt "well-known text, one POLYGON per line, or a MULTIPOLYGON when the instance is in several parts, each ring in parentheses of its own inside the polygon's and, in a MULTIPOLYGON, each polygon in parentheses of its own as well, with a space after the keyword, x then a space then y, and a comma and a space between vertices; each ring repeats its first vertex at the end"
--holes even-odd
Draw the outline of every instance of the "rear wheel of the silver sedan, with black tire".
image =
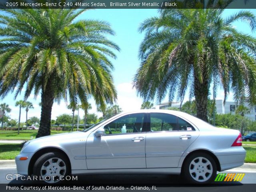
POLYGON ((182 167, 182 176, 186 182, 192 184, 211 183, 216 178, 216 172, 216 162, 212 156, 203 152, 188 156, 182 167))

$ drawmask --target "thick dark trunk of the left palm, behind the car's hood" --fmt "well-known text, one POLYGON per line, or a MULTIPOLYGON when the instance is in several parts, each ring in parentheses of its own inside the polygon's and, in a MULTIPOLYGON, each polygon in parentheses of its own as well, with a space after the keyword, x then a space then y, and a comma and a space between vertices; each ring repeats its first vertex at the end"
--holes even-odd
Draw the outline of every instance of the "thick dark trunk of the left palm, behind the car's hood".
POLYGON ((54 91, 51 80, 48 80, 46 90, 42 90, 41 94, 41 119, 40 126, 36 138, 50 135, 52 105, 54 102, 54 91))

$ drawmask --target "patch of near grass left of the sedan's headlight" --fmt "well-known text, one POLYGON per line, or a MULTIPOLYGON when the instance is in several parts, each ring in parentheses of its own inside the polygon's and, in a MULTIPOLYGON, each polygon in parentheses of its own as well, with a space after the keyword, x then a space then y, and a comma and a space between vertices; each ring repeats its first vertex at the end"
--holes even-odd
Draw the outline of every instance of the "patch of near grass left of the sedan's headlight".
POLYGON ((0 143, 0 160, 14 159, 20 153, 20 145, 0 143))

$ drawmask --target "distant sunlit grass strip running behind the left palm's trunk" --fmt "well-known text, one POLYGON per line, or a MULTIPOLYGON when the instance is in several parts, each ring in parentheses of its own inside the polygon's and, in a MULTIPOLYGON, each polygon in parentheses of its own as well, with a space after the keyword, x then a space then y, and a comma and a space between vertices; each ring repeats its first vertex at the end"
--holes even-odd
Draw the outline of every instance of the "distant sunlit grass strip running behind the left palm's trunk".
MULTIPOLYGON (((18 134, 18 131, 5 131, 0 130, 0 139, 3 140, 30 140, 31 136, 36 138, 38 130, 20 130, 20 134, 18 134)), ((68 131, 51 131, 51 135, 53 134, 59 134, 59 133, 65 133, 68 131)))

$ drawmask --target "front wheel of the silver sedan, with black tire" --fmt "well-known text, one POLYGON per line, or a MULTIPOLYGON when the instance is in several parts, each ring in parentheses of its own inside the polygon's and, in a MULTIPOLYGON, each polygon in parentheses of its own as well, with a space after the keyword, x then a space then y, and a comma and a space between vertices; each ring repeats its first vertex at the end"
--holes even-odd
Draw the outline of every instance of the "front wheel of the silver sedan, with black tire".
POLYGON ((61 183, 64 181, 63 179, 66 178, 66 176, 70 175, 69 161, 66 158, 66 156, 64 156, 60 152, 45 153, 42 156, 40 156, 38 160, 36 160, 33 167, 33 174, 35 176, 38 176, 38 180, 40 178, 41 181, 46 176, 48 176, 44 180, 44 182, 46 183, 50 183, 50 184, 61 183), (60 160, 60 163, 58 163, 58 160, 60 160), (48 162, 48 166, 47 166, 47 162, 48 162), (41 169, 44 169, 43 165, 44 165, 44 168, 49 167, 49 169, 51 169, 52 172, 47 172, 48 170, 47 171, 41 170, 41 169), (61 180, 58 175, 61 176, 61 180), (49 178, 50 180, 48 180, 49 178))

